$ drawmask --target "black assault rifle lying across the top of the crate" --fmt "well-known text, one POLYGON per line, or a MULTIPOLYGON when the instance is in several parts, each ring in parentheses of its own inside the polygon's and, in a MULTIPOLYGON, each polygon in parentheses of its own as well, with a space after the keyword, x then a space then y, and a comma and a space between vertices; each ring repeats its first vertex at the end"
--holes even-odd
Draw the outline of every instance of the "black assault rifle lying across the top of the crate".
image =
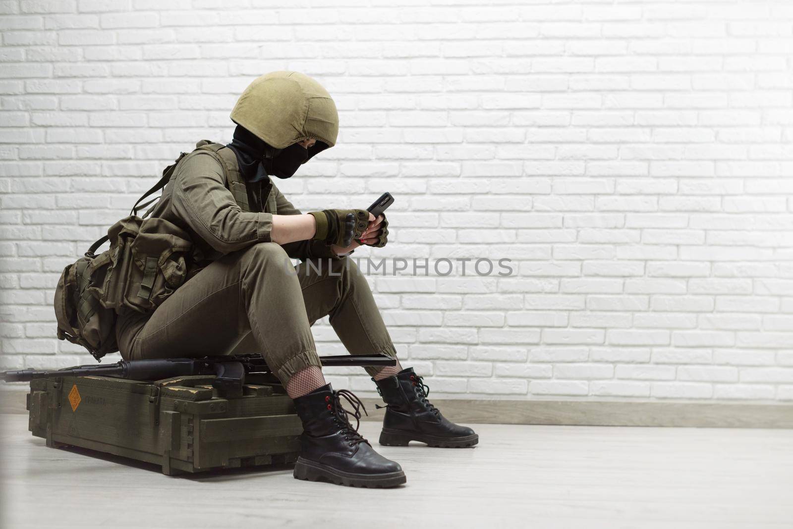
MULTIPOLYGON (((397 359, 388 355, 320 356, 325 367, 395 366, 397 359)), ((174 376, 215 375, 212 382, 220 394, 241 395, 245 375, 271 373, 262 355, 204 356, 203 358, 167 358, 155 360, 121 360, 109 365, 88 365, 65 369, 21 369, 0 373, 3 382, 30 382, 63 376, 109 376, 118 379, 160 380, 174 376)))

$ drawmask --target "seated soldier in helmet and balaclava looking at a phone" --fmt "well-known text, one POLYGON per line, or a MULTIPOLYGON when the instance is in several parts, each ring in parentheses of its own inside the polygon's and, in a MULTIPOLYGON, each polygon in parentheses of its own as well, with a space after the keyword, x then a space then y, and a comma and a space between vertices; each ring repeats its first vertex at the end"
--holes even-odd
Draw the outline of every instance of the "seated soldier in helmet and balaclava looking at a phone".
MULTIPOLYGON (((301 214, 271 177, 289 178, 333 147, 339 116, 328 92, 304 74, 277 71, 255 79, 232 110, 232 143, 202 141, 178 163, 152 211, 193 240, 190 280, 151 314, 122 311, 116 327, 126 360, 206 356, 249 344, 261 352, 294 399, 304 432, 294 477, 340 485, 389 487, 405 482, 396 462, 353 428, 341 398, 325 382, 311 325, 330 323, 353 355, 397 355, 366 279, 346 255, 382 247, 385 215, 326 209, 301 214), (299 258, 296 270, 289 258, 299 258), (242 344, 240 344, 242 340, 242 344)), ((387 403, 380 443, 473 446, 470 428, 447 421, 427 401, 412 368, 368 367, 387 403)), ((351 412, 352 413, 352 412, 351 412)))

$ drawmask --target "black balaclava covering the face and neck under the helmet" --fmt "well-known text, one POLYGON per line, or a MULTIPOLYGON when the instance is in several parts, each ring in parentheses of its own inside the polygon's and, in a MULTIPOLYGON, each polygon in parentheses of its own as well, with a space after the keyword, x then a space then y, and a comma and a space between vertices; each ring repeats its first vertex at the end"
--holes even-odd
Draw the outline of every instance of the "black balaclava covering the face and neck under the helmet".
POLYGON ((306 149, 299 143, 293 143, 284 149, 275 149, 251 131, 237 125, 234 129, 234 139, 227 147, 236 153, 239 172, 245 180, 258 182, 268 176, 291 177, 301 164, 327 149, 328 144, 316 141, 312 147, 306 149))

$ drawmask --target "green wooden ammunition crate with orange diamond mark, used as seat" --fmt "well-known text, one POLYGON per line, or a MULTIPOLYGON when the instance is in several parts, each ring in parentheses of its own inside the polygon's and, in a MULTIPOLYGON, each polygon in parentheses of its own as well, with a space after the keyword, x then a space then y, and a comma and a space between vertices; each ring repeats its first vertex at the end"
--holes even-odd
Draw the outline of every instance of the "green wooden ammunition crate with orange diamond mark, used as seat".
POLYGON ((33 380, 29 430, 48 447, 152 462, 168 475, 294 462, 303 428, 282 386, 253 375, 242 397, 220 398, 213 378, 33 380))

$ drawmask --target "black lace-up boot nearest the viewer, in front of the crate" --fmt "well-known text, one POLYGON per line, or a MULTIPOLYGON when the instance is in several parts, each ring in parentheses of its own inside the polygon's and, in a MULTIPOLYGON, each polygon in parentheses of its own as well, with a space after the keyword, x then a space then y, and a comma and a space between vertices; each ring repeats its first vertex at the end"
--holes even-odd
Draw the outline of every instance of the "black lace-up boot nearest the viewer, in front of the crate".
POLYGON ((378 454, 358 433, 363 404, 351 391, 334 391, 328 384, 294 402, 303 421, 295 478, 369 488, 396 487, 407 481, 398 463, 378 454), (341 397, 354 407, 354 413, 342 408, 341 397), (355 417, 355 428, 347 413, 355 417))

